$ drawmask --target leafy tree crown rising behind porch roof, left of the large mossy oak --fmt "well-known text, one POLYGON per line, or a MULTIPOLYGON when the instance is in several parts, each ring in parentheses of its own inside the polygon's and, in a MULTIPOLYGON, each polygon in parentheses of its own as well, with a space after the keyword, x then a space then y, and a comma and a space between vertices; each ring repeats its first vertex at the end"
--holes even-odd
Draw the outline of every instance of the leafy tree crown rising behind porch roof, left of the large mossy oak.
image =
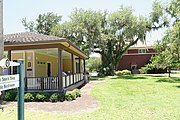
POLYGON ((98 47, 96 44, 101 34, 102 17, 100 11, 75 9, 70 21, 55 26, 51 34, 70 39, 90 54, 98 47))

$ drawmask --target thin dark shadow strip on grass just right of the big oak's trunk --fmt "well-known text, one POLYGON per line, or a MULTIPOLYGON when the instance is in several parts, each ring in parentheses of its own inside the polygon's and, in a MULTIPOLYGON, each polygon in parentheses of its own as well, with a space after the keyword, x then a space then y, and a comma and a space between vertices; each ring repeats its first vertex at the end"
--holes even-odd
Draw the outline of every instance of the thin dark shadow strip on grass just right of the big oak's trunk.
POLYGON ((122 75, 122 76, 117 76, 112 79, 147 79, 146 76, 136 76, 136 75, 122 75))

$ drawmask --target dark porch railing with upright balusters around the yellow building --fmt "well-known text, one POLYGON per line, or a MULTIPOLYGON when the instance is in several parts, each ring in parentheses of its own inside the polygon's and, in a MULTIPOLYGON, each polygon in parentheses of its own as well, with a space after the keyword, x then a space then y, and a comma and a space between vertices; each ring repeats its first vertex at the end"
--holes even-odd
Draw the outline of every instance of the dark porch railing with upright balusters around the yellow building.
MULTIPOLYGON (((84 79, 83 73, 63 76, 63 87, 67 88, 84 79)), ((58 77, 25 77, 25 91, 31 90, 58 90, 58 77)))

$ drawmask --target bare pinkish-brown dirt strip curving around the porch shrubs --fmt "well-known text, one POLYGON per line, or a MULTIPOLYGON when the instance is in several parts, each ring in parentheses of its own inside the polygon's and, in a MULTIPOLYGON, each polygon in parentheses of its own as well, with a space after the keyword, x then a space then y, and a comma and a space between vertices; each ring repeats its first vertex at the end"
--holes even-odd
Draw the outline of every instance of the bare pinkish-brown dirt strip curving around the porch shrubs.
MULTIPOLYGON (((81 88, 82 96, 74 101, 68 102, 28 102, 25 103, 25 109, 31 111, 55 112, 55 113, 81 113, 91 112, 98 108, 98 101, 96 98, 89 95, 90 90, 102 81, 90 81, 83 88, 81 88)), ((4 107, 17 108, 17 102, 7 102, 4 107)))

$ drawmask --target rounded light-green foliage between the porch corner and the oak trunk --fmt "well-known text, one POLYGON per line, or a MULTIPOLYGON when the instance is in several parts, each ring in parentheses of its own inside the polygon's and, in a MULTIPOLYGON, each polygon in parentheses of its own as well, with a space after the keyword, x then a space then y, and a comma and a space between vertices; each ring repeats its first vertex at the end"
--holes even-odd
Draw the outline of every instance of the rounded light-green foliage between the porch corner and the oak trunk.
POLYGON ((101 59, 98 57, 90 57, 87 61, 86 61, 87 65, 87 71, 89 72, 94 72, 94 71, 98 71, 100 65, 101 65, 101 59))

